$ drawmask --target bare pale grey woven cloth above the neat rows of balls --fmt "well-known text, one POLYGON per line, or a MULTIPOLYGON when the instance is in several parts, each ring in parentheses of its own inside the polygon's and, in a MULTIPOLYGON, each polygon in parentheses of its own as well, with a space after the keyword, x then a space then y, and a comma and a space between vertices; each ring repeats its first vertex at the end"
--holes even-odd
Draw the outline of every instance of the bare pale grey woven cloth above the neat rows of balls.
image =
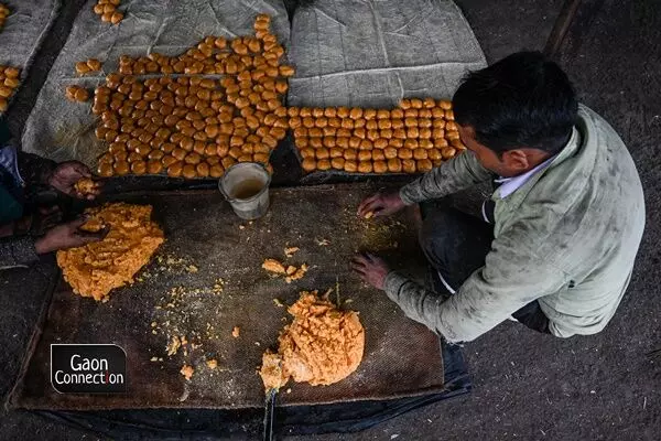
POLYGON ((292 106, 397 106, 403 97, 452 97, 486 66, 451 0, 314 1, 294 13, 292 106))

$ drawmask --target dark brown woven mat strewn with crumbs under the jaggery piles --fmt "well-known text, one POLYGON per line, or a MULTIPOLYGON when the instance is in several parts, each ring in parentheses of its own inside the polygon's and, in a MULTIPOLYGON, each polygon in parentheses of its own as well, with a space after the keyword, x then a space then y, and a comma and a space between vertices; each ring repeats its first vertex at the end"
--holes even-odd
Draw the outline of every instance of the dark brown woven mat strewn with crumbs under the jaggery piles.
MULTIPOLYGON (((260 407, 263 387, 256 370, 261 354, 274 347, 289 321, 285 309, 273 299, 291 304, 303 289, 325 292, 336 286, 343 308, 360 313, 366 330, 362 363, 332 386, 290 383, 281 392, 282 405, 443 390, 436 335, 407 319, 386 294, 364 286, 349 271, 348 260, 359 249, 399 256, 407 266, 424 268, 412 212, 384 220, 356 216, 360 200, 375 190, 370 185, 272 190, 269 214, 252 224, 234 216, 216 192, 128 198, 154 206, 154 217, 165 229, 165 244, 139 281, 115 291, 107 303, 74 295, 65 284, 56 290, 11 406, 69 410, 260 407), (319 245, 324 239, 328 244, 319 245), (301 250, 284 259, 285 246, 301 250), (267 257, 292 265, 306 262, 311 269, 303 279, 286 284, 261 269, 267 257), (217 292, 214 286, 220 278, 223 291, 217 292), (170 295, 177 287, 185 291, 178 300, 170 295), (238 338, 231 336, 234 326, 241 330, 238 338), (171 333, 186 335, 202 346, 169 357, 165 346, 171 333), (57 394, 48 384, 51 343, 119 344, 128 354, 128 394, 57 394), (205 365, 209 358, 217 359, 217 369, 205 365), (196 369, 191 381, 180 374, 184 363, 196 369)), ((330 298, 337 300, 335 293, 330 298)))

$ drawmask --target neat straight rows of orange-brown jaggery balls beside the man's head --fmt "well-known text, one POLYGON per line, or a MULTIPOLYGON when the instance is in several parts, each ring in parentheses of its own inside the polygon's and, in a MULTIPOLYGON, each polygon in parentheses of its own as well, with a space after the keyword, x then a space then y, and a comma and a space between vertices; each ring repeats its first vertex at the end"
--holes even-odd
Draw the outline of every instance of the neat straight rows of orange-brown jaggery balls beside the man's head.
POLYGON ((426 172, 465 150, 452 103, 401 100, 394 109, 290 108, 306 172, 426 172))

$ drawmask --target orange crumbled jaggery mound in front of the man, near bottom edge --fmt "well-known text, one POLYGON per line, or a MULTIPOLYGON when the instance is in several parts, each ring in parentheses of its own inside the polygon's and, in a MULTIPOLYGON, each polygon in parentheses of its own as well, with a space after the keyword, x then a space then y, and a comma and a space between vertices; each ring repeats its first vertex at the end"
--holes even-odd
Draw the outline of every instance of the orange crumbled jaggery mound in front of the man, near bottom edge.
POLYGON ((302 292, 289 308, 293 322, 278 340, 278 354, 266 352, 260 375, 267 390, 290 376, 296 383, 330 385, 346 378, 362 359, 365 330, 355 311, 340 311, 316 291, 302 292))

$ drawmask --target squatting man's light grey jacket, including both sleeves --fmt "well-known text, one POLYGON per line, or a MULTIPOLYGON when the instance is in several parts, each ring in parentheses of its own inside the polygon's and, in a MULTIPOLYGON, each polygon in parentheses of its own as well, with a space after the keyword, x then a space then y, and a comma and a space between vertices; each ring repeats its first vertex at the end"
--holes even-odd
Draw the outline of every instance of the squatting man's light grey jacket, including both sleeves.
MULTIPOLYGON (((571 140, 505 198, 496 192, 486 263, 445 300, 398 272, 384 290, 404 313, 451 342, 470 341, 538 300, 559 337, 594 334, 629 284, 644 227, 642 186, 622 140, 585 106, 571 140)), ((401 189, 404 203, 437 198, 492 174, 469 151, 401 189)))

